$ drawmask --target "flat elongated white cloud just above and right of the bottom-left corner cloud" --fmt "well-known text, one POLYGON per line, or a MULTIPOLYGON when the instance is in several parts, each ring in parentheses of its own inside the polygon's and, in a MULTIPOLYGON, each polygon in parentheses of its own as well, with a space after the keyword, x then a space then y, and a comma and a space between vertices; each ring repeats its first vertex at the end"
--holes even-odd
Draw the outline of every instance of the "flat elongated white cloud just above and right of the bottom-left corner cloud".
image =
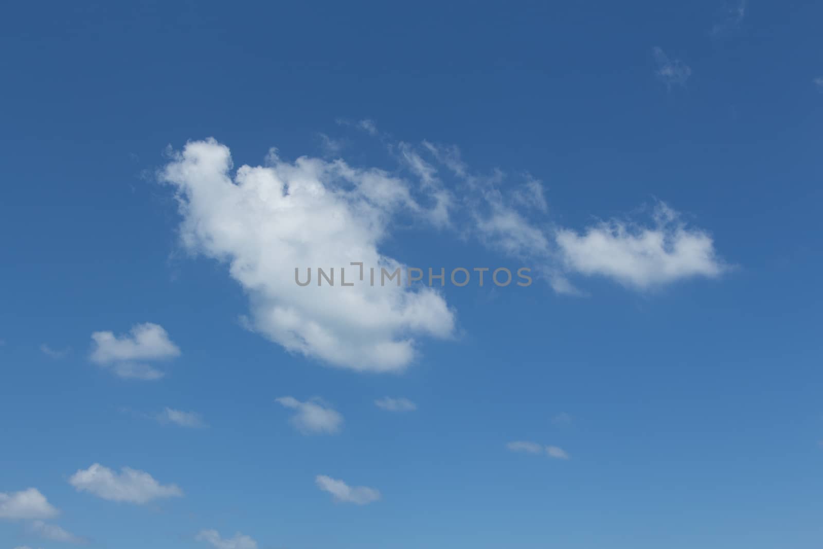
POLYGON ((174 484, 163 486, 147 472, 124 467, 117 473, 100 463, 95 463, 85 471, 77 471, 68 482, 77 491, 87 491, 104 500, 135 504, 183 495, 179 487, 174 484))

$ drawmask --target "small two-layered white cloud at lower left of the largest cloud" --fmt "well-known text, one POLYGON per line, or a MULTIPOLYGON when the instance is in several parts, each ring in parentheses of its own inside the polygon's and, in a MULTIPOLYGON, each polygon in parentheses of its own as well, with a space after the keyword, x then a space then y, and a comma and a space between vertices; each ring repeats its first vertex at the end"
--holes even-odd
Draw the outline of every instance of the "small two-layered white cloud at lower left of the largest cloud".
POLYGON ((111 332, 95 332, 91 340, 91 361, 110 366, 123 378, 160 379, 164 373, 146 362, 180 355, 165 329, 154 323, 136 324, 130 334, 119 337, 111 332))

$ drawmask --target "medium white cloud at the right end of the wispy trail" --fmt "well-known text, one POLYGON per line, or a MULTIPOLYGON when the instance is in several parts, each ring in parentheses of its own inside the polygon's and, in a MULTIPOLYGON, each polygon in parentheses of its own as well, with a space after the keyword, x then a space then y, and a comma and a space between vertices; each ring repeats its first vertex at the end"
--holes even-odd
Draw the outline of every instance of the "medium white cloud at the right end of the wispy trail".
POLYGON ((690 229, 662 202, 651 228, 610 221, 579 235, 562 229, 557 244, 566 266, 610 277, 639 290, 690 277, 718 277, 725 267, 708 233, 690 229))

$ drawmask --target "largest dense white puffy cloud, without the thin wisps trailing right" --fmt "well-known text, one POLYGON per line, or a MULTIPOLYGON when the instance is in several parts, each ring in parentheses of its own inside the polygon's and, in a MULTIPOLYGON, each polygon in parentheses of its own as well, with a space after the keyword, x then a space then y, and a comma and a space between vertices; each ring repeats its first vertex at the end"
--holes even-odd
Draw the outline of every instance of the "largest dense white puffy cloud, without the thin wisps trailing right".
POLYGON ((288 351, 363 371, 398 371, 416 356, 418 336, 451 337, 454 318, 431 288, 340 285, 351 262, 389 272, 401 265, 378 251, 398 212, 419 212, 407 184, 343 161, 268 156, 266 166, 231 173, 228 147, 188 142, 161 179, 178 191, 184 245, 229 266, 249 295, 249 327, 288 351), (335 268, 337 286, 300 287, 295 268, 335 268))

